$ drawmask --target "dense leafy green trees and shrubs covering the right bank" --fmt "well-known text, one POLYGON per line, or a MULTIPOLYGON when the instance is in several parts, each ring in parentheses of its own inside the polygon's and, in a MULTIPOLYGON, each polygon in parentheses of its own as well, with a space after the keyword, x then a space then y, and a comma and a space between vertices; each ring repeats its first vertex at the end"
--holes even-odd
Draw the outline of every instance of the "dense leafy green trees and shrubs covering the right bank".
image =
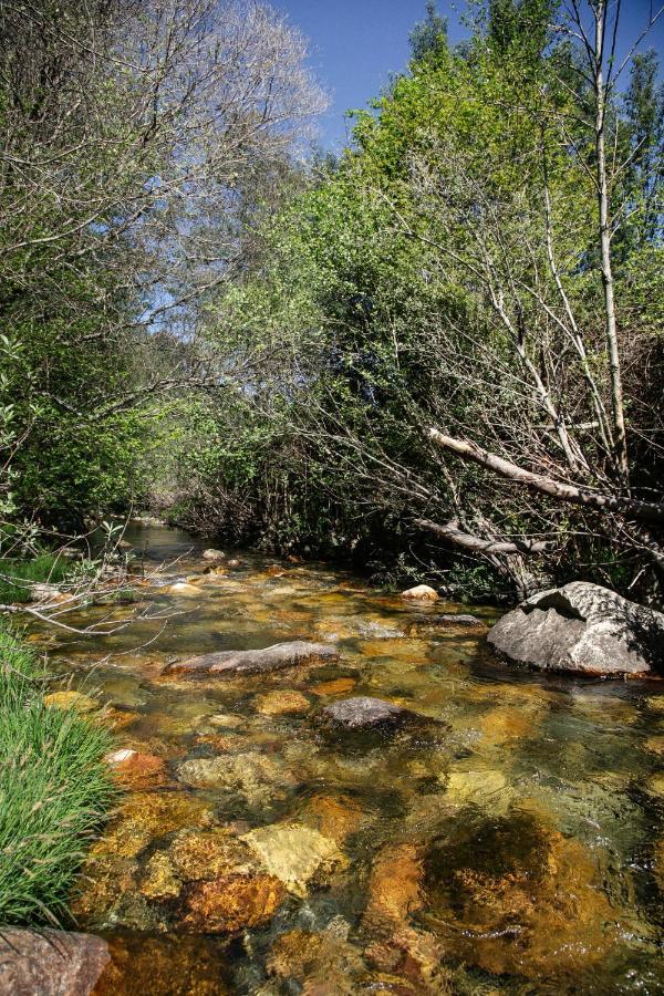
MULTIPOLYGON (((491 0, 476 10, 474 37, 454 49, 427 6, 408 73, 355 115, 353 146, 270 219, 257 266, 210 307, 206 334, 220 354, 278 360, 249 377, 243 397, 206 409, 180 509, 209 531, 234 535, 241 523, 240 537, 280 549, 352 552, 391 583, 411 570, 435 573, 437 556, 452 568, 446 583, 485 598, 496 590, 496 564, 432 552, 415 518, 553 535, 560 552, 547 569, 556 577, 591 575, 599 556, 589 536, 601 533, 599 522, 488 483, 478 467, 445 460, 426 436, 437 425, 498 452, 525 447, 529 466, 556 466, 556 440, 533 428, 547 422, 533 371, 572 424, 592 425, 582 364, 560 333, 567 312, 548 239, 583 330, 587 371, 610 401, 595 149, 582 125, 590 96, 575 56, 550 31, 554 2, 491 0), (497 317, 504 289, 517 334, 497 317)), ((657 100, 646 60, 625 106, 611 106, 611 141, 627 154, 650 149, 651 167, 657 100)), ((626 191, 632 208, 647 200, 655 217, 652 173, 635 155, 612 189, 615 203, 626 191)), ((634 331, 625 385, 642 485, 653 484, 654 448, 643 440, 656 438, 660 418, 658 295, 649 298, 644 280, 658 286, 661 248, 647 210, 630 215, 634 235, 623 239, 616 280, 634 331)), ((596 468, 594 486, 605 452, 592 434, 580 446, 596 468)))

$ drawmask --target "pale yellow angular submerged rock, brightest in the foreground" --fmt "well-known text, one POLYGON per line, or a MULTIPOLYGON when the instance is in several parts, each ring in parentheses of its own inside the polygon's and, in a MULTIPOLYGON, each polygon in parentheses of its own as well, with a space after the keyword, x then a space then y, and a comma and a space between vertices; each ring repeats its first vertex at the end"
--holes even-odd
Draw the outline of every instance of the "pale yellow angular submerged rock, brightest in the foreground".
POLYGON ((347 864, 335 841, 303 823, 273 823, 241 838, 294 895, 304 896, 308 884, 317 884, 347 864))

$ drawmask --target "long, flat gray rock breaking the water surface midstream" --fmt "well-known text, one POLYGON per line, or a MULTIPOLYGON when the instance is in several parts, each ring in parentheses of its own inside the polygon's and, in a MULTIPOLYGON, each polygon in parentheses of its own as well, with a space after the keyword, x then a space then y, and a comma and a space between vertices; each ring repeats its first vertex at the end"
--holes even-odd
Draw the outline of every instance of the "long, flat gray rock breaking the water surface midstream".
POLYGON ((339 652, 329 643, 276 643, 258 651, 219 651, 201 654, 187 661, 176 661, 164 668, 164 674, 209 674, 228 676, 236 674, 267 674, 294 667, 299 664, 315 664, 321 661, 336 661, 339 652))

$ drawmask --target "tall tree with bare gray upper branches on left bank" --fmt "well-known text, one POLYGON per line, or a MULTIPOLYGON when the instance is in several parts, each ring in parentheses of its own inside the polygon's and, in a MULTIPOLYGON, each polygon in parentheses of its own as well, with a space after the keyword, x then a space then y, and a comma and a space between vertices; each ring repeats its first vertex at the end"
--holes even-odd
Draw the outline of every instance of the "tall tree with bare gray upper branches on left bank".
POLYGON ((200 308, 324 100, 258 2, 2 0, 0 37, 3 463, 17 513, 80 526, 139 497, 158 398, 225 383, 200 308))

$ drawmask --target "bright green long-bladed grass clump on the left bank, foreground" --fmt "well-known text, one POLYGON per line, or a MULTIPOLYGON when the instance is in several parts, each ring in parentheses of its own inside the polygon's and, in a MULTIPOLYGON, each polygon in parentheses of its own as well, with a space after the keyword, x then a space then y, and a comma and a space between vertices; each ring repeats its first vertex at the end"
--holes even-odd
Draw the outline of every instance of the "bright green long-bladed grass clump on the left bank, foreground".
POLYGON ((112 735, 46 708, 43 670, 0 621, 0 923, 54 923, 116 793, 112 735))

